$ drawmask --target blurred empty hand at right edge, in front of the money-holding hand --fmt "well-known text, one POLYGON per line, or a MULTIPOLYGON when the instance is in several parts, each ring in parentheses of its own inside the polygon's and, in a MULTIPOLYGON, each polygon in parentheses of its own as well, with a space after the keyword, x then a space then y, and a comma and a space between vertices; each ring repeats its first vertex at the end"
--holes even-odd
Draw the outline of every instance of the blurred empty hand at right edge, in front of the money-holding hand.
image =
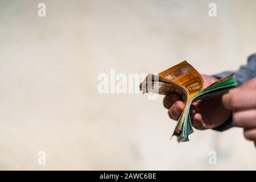
POLYGON ((233 125, 243 127, 245 138, 253 140, 256 147, 256 78, 230 90, 222 97, 222 102, 233 110, 233 125))

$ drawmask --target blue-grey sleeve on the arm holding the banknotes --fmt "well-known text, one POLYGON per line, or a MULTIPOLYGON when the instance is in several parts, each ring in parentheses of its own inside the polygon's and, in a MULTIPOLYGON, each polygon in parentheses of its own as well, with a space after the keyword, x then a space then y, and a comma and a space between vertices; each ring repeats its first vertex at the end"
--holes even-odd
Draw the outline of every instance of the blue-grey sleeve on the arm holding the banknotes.
MULTIPOLYGON (((238 71, 226 71, 222 73, 218 73, 213 75, 216 78, 226 77, 229 74, 234 73, 234 77, 237 80, 238 86, 242 85, 247 80, 256 77, 256 53, 248 57, 247 64, 245 66, 241 66, 238 71)), ((225 131, 232 127, 232 116, 225 121, 222 125, 214 128, 213 130, 217 131, 225 131)))

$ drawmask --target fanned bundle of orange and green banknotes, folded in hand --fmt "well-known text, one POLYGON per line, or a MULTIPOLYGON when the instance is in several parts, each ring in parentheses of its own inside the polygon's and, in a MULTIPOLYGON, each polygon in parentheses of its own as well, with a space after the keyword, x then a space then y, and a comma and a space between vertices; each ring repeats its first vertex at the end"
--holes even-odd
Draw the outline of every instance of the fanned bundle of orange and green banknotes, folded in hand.
POLYGON ((178 142, 189 141, 188 136, 193 133, 189 109, 193 101, 205 98, 221 96, 230 88, 236 87, 237 82, 233 73, 221 78, 207 88, 203 89, 204 80, 187 61, 183 61, 174 67, 168 68, 158 75, 149 74, 139 85, 143 93, 170 94, 177 93, 183 100, 185 107, 181 113, 173 135, 178 142))

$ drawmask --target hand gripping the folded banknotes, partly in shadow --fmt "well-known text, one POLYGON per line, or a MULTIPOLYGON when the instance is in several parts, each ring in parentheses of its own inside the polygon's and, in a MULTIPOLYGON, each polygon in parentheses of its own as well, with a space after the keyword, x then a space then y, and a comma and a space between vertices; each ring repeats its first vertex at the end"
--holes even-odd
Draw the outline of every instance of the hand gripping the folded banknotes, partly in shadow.
MULTIPOLYGON (((204 78, 204 88, 212 84, 217 78, 202 75, 204 78)), ((171 93, 164 97, 164 106, 168 109, 168 114, 172 119, 177 120, 184 109, 184 103, 180 97, 171 93)), ((221 102, 221 97, 197 100, 191 106, 192 125, 196 129, 212 129, 224 123, 232 114, 221 102)))

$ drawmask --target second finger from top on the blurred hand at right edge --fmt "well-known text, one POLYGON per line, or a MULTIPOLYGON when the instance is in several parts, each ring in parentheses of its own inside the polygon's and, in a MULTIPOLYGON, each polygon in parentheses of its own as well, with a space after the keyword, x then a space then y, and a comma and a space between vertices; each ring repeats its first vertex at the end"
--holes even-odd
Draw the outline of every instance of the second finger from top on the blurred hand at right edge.
POLYGON ((234 112, 233 125, 244 128, 256 127, 256 109, 234 112))

